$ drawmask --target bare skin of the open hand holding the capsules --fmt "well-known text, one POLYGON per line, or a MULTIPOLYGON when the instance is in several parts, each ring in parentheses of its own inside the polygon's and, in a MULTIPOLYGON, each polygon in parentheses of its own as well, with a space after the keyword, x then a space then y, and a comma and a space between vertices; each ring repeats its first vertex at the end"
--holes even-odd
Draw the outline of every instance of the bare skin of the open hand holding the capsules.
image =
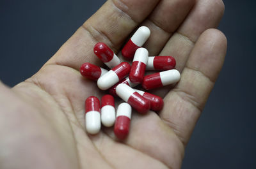
POLYGON ((12 89, 0 83, 0 168, 180 168, 225 58, 227 40, 215 29, 223 11, 221 0, 107 1, 33 77, 12 89), (79 68, 102 66, 95 43, 118 53, 138 26, 152 31, 150 55, 175 57, 180 82, 153 91, 163 110, 134 112, 124 141, 113 128, 89 135, 84 100, 104 92, 79 68))

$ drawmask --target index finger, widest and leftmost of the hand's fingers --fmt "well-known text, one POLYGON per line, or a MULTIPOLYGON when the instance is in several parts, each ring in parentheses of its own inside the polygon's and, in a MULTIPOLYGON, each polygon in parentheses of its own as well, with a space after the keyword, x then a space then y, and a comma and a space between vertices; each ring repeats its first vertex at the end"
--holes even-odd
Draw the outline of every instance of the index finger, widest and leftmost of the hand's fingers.
POLYGON ((60 48, 47 64, 79 70, 83 62, 99 64, 93 46, 103 41, 116 52, 129 33, 144 20, 159 0, 109 0, 60 48))

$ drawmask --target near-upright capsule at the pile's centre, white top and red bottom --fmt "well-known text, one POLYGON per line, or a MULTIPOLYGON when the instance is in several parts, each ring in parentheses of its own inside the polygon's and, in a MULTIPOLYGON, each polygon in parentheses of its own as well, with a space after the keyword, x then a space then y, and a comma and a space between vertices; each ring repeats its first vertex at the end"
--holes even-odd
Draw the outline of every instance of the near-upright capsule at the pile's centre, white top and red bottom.
POLYGON ((146 65, 148 62, 148 50, 145 48, 138 48, 135 52, 129 79, 133 84, 141 84, 143 82, 146 65))

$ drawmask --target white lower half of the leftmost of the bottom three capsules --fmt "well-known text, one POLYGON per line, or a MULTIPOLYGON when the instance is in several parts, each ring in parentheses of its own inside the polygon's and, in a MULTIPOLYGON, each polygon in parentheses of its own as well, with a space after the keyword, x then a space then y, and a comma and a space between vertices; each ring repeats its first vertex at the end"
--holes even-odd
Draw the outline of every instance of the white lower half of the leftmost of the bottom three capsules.
POLYGON ((86 131, 92 135, 99 133, 101 122, 100 112, 90 111, 85 114, 86 131))

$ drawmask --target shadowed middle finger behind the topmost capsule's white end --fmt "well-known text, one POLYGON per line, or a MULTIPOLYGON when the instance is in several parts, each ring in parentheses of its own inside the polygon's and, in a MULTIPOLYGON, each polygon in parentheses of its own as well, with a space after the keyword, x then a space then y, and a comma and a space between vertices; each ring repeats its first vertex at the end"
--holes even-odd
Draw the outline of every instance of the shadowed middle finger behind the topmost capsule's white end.
POLYGON ((180 26, 193 7, 191 0, 162 0, 141 25, 149 27, 150 38, 144 47, 150 55, 158 55, 172 33, 180 26), (161 38, 159 38, 161 37, 161 38))

